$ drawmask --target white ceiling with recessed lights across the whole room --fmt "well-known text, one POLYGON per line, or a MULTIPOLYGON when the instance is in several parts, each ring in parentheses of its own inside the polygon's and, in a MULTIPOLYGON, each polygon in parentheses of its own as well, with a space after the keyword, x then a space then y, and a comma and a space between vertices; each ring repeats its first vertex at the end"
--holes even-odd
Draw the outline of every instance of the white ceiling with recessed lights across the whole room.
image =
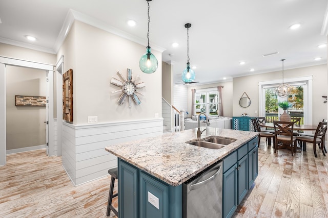
MULTIPOLYGON (((328 0, 153 0, 150 2, 150 46, 162 47, 162 61, 174 64, 174 81, 189 56, 201 83, 249 74, 327 63, 328 0), (290 30, 294 23, 302 26, 290 30), (174 48, 172 43, 179 46, 174 48), (279 54, 263 57, 263 54, 279 54), (173 54, 169 56, 169 54, 173 54), (314 58, 321 57, 320 61, 314 58), (245 61, 244 65, 239 65, 245 61), (249 70, 254 68, 254 72, 249 70)), ((72 9, 139 38, 147 45, 146 0, 1 0, 0 42, 56 53, 60 31, 72 9), (137 25, 127 25, 133 19, 137 25), (24 37, 37 38, 29 42, 24 37)), ((145 48, 146 51, 146 48, 145 48)), ((140 54, 141 57, 142 54, 140 54)), ((139 60, 136 60, 139 61, 139 60)))

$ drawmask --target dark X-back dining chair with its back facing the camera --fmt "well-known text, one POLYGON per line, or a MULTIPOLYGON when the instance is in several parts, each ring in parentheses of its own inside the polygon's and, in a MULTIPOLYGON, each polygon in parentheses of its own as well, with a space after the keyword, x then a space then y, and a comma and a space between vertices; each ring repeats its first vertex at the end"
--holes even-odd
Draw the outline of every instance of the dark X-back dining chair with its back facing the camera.
POLYGON ((292 156, 294 156, 294 150, 296 151, 296 136, 293 135, 294 122, 283 122, 274 121, 275 128, 275 153, 280 148, 286 148, 287 146, 292 151, 292 156))

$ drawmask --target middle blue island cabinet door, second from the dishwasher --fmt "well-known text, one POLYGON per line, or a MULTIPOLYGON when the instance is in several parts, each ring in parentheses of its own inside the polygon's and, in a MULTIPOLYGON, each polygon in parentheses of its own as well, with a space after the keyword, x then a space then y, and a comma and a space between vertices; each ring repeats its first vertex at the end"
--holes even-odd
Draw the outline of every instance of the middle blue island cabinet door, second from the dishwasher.
POLYGON ((242 201, 248 191, 248 155, 238 160, 238 204, 242 201))

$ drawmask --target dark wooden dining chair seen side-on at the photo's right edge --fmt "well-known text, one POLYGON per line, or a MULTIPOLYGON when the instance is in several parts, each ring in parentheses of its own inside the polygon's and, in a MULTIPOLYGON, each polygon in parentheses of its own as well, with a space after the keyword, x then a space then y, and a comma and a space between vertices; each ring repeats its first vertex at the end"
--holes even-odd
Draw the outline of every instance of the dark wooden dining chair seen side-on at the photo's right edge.
POLYGON ((322 151, 322 154, 324 156, 325 155, 325 147, 324 147, 324 136, 326 134, 327 131, 327 122, 319 122, 316 133, 314 134, 314 136, 306 136, 306 135, 301 135, 301 136, 297 136, 296 140, 300 141, 300 142, 305 142, 303 143, 306 144, 306 142, 310 142, 313 143, 313 152, 314 152, 314 156, 317 156, 317 151, 316 151, 316 146, 318 144, 320 150, 322 151))

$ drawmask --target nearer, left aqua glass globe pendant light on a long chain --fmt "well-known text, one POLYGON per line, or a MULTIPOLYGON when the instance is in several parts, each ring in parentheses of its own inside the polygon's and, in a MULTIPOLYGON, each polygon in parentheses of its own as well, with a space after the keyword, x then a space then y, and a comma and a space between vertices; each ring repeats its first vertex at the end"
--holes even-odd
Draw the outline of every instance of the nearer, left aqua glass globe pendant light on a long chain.
POLYGON ((142 72, 145 72, 146 74, 152 74, 156 71, 158 67, 158 61, 151 53, 151 49, 149 46, 149 22, 150 22, 150 16, 149 16, 149 2, 152 0, 146 0, 148 3, 148 33, 147 33, 147 39, 148 39, 148 46, 146 48, 146 53, 141 56, 139 60, 139 67, 142 72))

